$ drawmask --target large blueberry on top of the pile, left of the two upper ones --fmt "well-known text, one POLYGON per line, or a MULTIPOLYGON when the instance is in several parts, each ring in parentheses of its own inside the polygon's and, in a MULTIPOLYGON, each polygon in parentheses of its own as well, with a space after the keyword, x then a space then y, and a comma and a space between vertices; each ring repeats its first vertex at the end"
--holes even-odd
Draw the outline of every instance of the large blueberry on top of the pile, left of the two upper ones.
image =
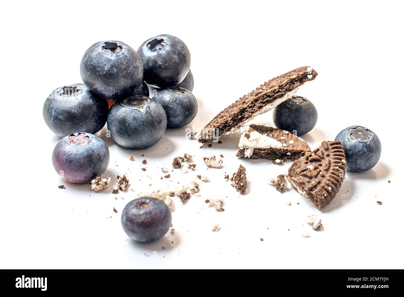
POLYGON ((142 83, 142 61, 136 51, 120 41, 101 41, 84 53, 80 65, 86 86, 105 99, 131 94, 142 83))

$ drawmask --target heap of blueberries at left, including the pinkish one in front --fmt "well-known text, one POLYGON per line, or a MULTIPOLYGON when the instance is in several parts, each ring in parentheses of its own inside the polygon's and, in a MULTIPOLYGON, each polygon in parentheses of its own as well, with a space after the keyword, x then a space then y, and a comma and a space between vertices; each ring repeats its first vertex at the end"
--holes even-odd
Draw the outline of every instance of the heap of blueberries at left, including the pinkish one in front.
POLYGON ((189 124, 198 112, 190 65, 185 43, 166 34, 146 40, 137 52, 120 41, 90 46, 80 64, 84 84, 57 88, 44 103, 46 124, 64 137, 53 151, 55 170, 72 183, 101 175, 109 153, 94 134, 105 123, 112 139, 130 149, 151 147, 166 127, 189 124))

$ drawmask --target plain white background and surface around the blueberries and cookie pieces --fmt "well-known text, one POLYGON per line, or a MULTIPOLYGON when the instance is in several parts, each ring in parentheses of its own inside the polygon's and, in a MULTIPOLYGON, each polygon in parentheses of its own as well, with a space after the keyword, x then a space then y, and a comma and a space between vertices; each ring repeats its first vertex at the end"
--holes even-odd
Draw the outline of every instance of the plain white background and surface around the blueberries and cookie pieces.
MULTIPOLYGON (((403 268, 402 11, 402 3, 390 1, 3 4, 0 267, 403 268), (125 173, 135 191, 113 195, 111 186, 97 194, 89 185, 62 181, 51 162, 58 138, 42 118, 46 97, 81 82, 80 60, 93 43, 120 40, 136 50, 158 34, 175 35, 189 47, 196 128, 265 80, 312 66, 318 77, 298 95, 316 105, 318 122, 303 139, 314 149, 347 126, 364 125, 381 139, 379 163, 366 173, 347 173, 337 197, 318 211, 295 190, 281 194, 268 185, 290 161, 281 167, 236 158, 239 134, 199 149, 183 127, 134 151, 105 138, 104 128, 100 135, 111 154, 104 175, 114 183, 125 173), (160 167, 185 152, 195 155, 197 170, 177 170, 171 183, 160 181, 160 167), (212 154, 224 155, 222 169, 206 169, 202 157, 212 154), (250 181, 244 196, 223 179, 239 164, 250 181), (197 174, 211 182, 201 182, 202 196, 186 204, 175 198, 175 235, 154 244, 127 240, 120 225, 127 202, 197 174), (224 212, 204 203, 213 196, 224 197, 224 212), (322 219, 322 230, 304 222, 311 214, 322 219), (217 223, 222 230, 212 232, 217 223), (303 229, 310 238, 301 236, 303 229)), ((272 112, 253 122, 273 125, 272 112)))

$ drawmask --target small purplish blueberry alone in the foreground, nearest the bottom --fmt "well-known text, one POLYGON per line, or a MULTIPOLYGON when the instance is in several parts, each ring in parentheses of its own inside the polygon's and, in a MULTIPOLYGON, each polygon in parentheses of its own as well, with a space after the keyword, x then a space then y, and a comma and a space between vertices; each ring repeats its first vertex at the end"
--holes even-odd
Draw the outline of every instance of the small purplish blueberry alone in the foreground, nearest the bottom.
POLYGON ((162 200, 141 197, 126 204, 121 223, 131 239, 152 242, 162 238, 170 229, 171 212, 162 200))

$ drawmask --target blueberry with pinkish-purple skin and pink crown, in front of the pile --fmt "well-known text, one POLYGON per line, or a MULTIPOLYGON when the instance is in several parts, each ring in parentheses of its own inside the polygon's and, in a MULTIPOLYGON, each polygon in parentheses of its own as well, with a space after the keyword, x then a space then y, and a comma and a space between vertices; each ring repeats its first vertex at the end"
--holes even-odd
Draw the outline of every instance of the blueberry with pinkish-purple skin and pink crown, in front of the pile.
POLYGON ((98 136, 80 132, 63 137, 52 153, 56 172, 70 183, 88 183, 108 167, 109 150, 98 136))

